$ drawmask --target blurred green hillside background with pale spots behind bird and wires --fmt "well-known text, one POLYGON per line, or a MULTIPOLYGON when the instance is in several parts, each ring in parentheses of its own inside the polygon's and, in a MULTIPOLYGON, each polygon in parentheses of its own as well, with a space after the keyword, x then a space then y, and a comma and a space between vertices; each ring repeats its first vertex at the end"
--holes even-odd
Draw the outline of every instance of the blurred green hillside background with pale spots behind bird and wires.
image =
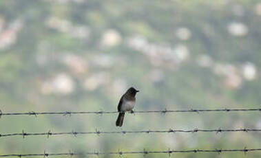
MULTIPOLYGON (((0 109, 116 111, 131 86, 140 90, 136 111, 259 108, 260 25, 258 0, 1 0, 0 109)), ((3 116, 0 133, 261 128, 258 112, 127 113, 122 128, 116 117, 3 116)), ((260 140, 259 133, 2 137, 0 154, 260 148, 260 140)), ((159 156, 168 157, 147 155, 159 156)))

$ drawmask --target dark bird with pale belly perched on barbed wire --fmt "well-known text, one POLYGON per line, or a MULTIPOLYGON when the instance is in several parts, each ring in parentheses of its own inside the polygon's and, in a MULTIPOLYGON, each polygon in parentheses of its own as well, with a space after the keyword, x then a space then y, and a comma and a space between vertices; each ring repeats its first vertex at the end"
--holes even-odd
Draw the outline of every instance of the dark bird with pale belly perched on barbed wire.
POLYGON ((134 87, 130 87, 118 102, 118 119, 116 120, 116 126, 123 126, 123 119, 126 111, 132 111, 135 106, 135 95, 138 90, 134 87))

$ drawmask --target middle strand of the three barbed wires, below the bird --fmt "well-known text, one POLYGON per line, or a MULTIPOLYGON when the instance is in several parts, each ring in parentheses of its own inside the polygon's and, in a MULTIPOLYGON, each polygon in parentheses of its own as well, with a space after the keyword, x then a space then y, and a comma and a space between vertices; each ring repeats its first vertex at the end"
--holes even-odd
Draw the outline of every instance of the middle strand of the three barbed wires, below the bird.
POLYGON ((17 136, 21 135, 23 138, 25 136, 36 136, 36 135, 47 135, 49 138, 50 135, 74 135, 76 137, 77 135, 101 135, 101 134, 127 134, 127 133, 222 133, 222 132, 261 132, 261 129, 255 129, 255 128, 240 128, 240 129, 199 129, 199 128, 194 128, 191 130, 180 130, 180 129, 169 129, 169 130, 164 130, 164 131, 152 131, 152 130, 147 130, 147 131, 96 131, 93 132, 51 132, 48 131, 46 133, 25 133, 25 131, 22 131, 22 133, 9 133, 9 134, 0 134, 0 137, 12 137, 12 136, 17 136))

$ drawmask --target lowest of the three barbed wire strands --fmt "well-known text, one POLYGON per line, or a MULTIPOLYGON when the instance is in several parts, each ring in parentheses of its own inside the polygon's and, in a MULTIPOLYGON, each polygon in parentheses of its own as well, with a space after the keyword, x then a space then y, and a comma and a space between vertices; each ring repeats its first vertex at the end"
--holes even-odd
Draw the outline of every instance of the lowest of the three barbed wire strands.
POLYGON ((74 156, 74 155, 148 155, 148 154, 168 154, 171 157, 173 153, 237 153, 243 152, 247 154, 248 152, 254 151, 261 151, 261 148, 243 148, 243 149, 194 149, 194 150, 142 150, 142 151, 118 151, 118 152, 107 152, 107 153, 100 153, 100 152, 90 152, 90 153, 73 153, 69 151, 68 153, 48 153, 44 151, 42 154, 10 154, 10 155, 0 155, 0 157, 32 157, 32 156, 43 156, 43 157, 52 157, 52 156, 74 156))

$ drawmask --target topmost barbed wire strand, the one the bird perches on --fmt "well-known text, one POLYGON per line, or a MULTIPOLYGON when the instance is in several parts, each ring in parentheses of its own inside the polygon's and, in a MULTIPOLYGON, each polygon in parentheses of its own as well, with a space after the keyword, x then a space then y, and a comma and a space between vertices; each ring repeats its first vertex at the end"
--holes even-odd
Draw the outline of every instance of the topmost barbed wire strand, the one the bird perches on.
MULTIPOLYGON (((260 111, 261 108, 256 109, 187 109, 187 110, 155 110, 155 111, 132 111, 130 113, 200 113, 200 112, 247 112, 247 111, 260 111)), ((88 115, 88 114, 112 114, 118 111, 64 111, 64 112, 19 112, 19 113, 3 113, 0 110, 0 117, 3 115, 88 115)))

